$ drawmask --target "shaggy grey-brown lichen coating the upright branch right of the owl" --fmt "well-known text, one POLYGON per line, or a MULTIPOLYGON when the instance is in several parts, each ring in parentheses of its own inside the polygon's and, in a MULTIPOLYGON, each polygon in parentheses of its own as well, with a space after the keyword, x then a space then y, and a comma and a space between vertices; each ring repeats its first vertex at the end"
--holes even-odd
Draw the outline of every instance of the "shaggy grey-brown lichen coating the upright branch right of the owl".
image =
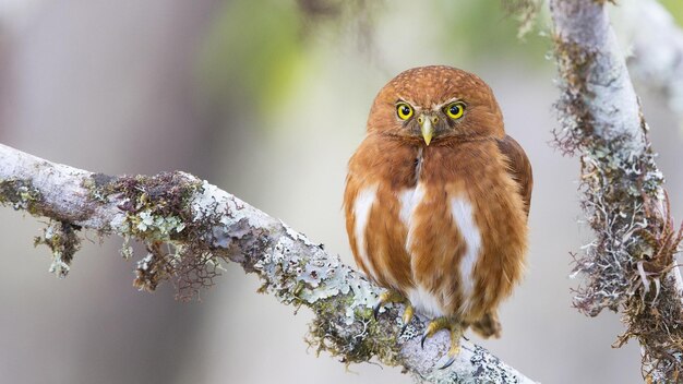
MULTIPOLYGON (((596 62, 604 59, 599 55, 555 39, 562 89, 556 104, 562 125, 555 131, 556 146, 564 153, 582 154, 583 208, 596 232, 585 254, 575 257, 574 275, 585 280, 576 289, 574 305, 591 316, 603 309, 621 311, 627 329, 615 346, 637 338, 644 347, 644 367, 655 368, 660 375, 663 372, 666 382, 679 382, 683 308, 668 273, 675 267, 683 229, 676 231, 673 226, 668 199, 662 204, 664 180, 655 164, 643 116, 642 135, 606 139, 597 134, 619 131, 604 127, 609 121, 596 121, 591 112, 594 104, 606 101, 595 100, 595 84, 590 84, 596 71, 606 70, 596 70, 596 62), (634 141, 643 141, 635 146, 644 151, 630 151, 634 141)), ((648 381, 655 380, 650 373, 644 371, 648 381)))

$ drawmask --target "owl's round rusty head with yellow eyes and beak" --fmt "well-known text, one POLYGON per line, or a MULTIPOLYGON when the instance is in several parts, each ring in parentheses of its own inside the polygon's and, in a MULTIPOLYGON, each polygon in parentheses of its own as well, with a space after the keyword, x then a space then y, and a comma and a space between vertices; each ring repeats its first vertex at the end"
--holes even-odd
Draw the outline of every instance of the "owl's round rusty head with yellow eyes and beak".
POLYGON ((445 65, 414 68, 392 79, 374 99, 368 132, 427 145, 504 136, 503 116, 489 85, 445 65))

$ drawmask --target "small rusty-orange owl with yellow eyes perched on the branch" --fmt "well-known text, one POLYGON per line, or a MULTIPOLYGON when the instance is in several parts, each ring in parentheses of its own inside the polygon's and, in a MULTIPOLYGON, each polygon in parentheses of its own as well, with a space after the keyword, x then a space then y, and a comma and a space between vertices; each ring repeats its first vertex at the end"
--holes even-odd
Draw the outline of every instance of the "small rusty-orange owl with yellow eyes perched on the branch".
POLYGON ((422 345, 448 329, 443 368, 468 327, 499 337, 498 307, 523 274, 531 188, 529 160, 481 79, 435 65, 390 81, 344 194, 355 260, 387 289, 375 316, 403 302, 404 329, 415 311, 431 319, 422 345))

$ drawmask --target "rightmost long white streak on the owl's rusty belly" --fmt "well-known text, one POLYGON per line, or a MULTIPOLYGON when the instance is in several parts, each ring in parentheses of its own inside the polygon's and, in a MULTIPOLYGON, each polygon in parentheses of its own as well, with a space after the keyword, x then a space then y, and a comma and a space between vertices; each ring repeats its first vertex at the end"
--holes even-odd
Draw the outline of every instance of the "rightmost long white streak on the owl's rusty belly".
POLYGON ((479 232, 479 228, 477 228, 477 223, 475 223, 472 206, 466 199, 453 197, 451 200, 451 214, 467 247, 459 265, 460 284, 463 287, 463 304, 460 305, 460 311, 466 312, 471 304, 470 299, 475 289, 472 273, 475 272, 475 266, 477 265, 481 250, 481 233, 479 232))

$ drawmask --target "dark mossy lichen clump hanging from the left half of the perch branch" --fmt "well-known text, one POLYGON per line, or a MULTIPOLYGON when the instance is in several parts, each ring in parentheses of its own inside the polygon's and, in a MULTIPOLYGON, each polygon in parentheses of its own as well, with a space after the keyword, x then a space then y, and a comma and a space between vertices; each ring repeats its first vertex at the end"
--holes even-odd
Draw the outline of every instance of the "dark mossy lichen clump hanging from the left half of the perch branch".
POLYGON ((145 245, 147 253, 136 262, 136 288, 152 291, 169 280, 178 298, 188 300, 213 285, 220 262, 197 241, 209 232, 211 220, 195 221, 191 206, 192 197, 202 190, 201 181, 182 172, 118 178, 95 173, 82 185, 94 200, 120 202, 118 207, 125 217, 112 230, 123 238, 124 259, 133 257, 132 240, 145 245))

